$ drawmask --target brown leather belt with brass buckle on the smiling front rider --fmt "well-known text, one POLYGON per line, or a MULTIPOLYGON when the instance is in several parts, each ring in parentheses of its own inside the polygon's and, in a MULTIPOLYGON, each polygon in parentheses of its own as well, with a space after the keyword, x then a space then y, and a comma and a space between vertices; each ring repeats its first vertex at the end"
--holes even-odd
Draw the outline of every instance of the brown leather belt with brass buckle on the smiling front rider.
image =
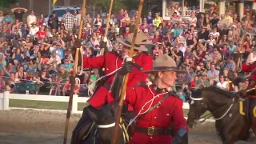
POLYGON ((135 126, 134 128, 135 132, 142 133, 142 134, 147 134, 149 136, 152 135, 171 135, 172 134, 172 129, 171 128, 155 128, 155 127, 139 127, 135 126))

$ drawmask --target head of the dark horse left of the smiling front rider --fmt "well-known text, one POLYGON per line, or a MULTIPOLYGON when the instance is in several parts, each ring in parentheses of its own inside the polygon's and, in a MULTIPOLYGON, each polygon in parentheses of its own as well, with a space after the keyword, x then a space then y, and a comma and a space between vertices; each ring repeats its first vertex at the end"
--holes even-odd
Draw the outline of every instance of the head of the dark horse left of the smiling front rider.
MULTIPOLYGON (((117 107, 113 105, 106 105, 94 112, 88 110, 88 114, 97 125, 98 137, 101 139, 101 142, 110 144, 114 134, 117 107)), ((119 134, 118 143, 124 143, 121 130, 119 130, 119 134)))

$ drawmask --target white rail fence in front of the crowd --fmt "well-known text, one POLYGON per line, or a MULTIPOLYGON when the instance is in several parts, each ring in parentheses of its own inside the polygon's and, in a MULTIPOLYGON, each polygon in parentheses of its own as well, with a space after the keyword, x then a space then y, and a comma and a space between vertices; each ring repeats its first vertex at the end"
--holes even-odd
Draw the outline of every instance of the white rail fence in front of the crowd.
MULTIPOLYGON (((69 97, 66 96, 50 96, 50 95, 34 95, 34 94, 10 94, 8 91, 4 93, 0 93, 0 110, 10 110, 10 109, 23 109, 27 110, 30 108, 21 108, 21 107, 10 107, 9 102, 10 99, 16 100, 32 100, 32 101, 44 101, 44 102, 69 102, 69 97)), ((78 111, 78 102, 86 103, 89 98, 78 97, 77 94, 73 96, 72 103, 72 114, 82 114, 82 111, 78 111)), ((183 109, 190 109, 188 103, 183 103, 183 109)), ((40 109, 36 109, 40 110, 40 109)), ((43 109, 41 109, 43 110, 43 109)), ((43 110, 46 111, 46 110, 43 110)), ((49 110, 51 111, 51 110, 49 110)), ((52 110, 52 111, 62 111, 66 112, 66 110, 52 110)))

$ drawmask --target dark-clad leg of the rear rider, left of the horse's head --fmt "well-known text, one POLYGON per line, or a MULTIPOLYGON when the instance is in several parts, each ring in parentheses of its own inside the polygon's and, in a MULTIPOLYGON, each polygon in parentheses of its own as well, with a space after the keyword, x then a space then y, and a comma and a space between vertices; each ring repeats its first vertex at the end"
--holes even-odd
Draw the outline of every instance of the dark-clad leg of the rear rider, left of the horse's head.
POLYGON ((75 126, 71 138, 71 144, 79 144, 82 142, 85 137, 86 132, 90 132, 90 126, 93 124, 90 115, 86 112, 86 110, 96 110, 93 106, 86 106, 83 109, 82 117, 78 121, 77 126, 75 126))

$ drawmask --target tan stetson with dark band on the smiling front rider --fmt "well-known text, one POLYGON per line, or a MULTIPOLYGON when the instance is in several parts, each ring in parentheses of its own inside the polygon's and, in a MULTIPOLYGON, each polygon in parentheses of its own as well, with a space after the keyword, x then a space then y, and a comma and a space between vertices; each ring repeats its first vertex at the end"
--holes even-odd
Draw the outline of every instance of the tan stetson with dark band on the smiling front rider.
POLYGON ((173 58, 166 54, 162 54, 156 60, 154 60, 153 70, 143 71, 144 73, 153 73, 157 71, 175 71, 178 74, 187 73, 186 70, 178 70, 176 62, 173 58))

